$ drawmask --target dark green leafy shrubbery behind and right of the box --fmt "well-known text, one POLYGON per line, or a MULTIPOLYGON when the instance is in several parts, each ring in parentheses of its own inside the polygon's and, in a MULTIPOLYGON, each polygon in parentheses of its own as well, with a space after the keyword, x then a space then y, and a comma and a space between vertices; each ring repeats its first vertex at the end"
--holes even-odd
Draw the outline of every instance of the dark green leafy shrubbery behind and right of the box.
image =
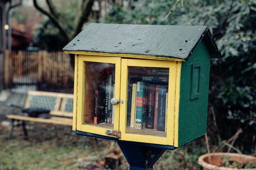
POLYGON ((208 134, 217 142, 242 128, 236 145, 255 143, 256 0, 139 0, 128 9, 112 3, 101 22, 207 25, 223 55, 211 64, 208 134))

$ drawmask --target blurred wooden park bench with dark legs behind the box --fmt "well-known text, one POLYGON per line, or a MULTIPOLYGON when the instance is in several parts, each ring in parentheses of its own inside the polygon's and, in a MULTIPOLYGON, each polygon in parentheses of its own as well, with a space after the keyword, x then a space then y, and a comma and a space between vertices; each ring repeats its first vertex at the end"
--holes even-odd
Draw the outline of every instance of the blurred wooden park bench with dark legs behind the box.
POLYGON ((24 134, 27 136, 25 121, 67 126, 72 126, 73 124, 73 94, 28 91, 23 107, 25 109, 33 108, 39 110, 48 110, 48 113, 39 114, 39 116, 36 117, 29 116, 27 113, 21 113, 19 115, 7 114, 6 117, 11 119, 9 140, 12 138, 14 127, 20 125, 23 126, 24 134))

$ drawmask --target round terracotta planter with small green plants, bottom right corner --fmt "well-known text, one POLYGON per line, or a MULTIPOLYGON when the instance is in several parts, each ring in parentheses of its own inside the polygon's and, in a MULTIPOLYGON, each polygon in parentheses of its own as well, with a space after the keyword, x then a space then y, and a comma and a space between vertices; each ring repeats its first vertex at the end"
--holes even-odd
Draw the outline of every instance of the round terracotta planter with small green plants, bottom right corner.
POLYGON ((256 157, 236 153, 210 153, 199 157, 203 170, 256 170, 256 157))

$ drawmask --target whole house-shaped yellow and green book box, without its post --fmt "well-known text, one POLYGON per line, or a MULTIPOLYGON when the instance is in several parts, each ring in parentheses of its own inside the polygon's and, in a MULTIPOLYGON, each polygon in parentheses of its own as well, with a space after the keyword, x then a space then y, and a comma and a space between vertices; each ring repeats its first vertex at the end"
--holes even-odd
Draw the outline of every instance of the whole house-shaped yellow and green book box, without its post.
POLYGON ((206 133, 207 26, 89 24, 75 54, 73 130, 119 141, 180 147, 206 133))

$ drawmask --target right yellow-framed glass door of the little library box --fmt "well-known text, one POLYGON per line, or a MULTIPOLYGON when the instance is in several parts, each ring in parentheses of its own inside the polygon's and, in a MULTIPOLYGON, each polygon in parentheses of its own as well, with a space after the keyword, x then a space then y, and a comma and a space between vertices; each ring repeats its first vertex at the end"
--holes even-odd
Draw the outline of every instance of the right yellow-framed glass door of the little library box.
POLYGON ((174 92, 169 82, 173 87, 175 66, 173 61, 122 59, 121 87, 126 91, 121 92, 125 104, 120 106, 120 129, 124 140, 166 144, 171 128, 167 123, 169 93, 174 92))

